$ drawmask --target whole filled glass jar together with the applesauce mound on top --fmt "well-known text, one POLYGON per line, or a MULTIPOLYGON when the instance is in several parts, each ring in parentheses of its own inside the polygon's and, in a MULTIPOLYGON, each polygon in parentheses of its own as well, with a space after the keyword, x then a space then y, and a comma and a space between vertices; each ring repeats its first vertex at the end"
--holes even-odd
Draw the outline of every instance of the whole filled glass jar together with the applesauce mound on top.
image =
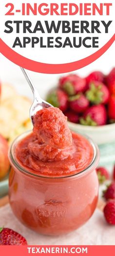
POLYGON ((58 108, 39 110, 33 123, 33 132, 20 135, 10 149, 10 205, 39 233, 75 230, 96 208, 98 148, 71 132, 58 108))

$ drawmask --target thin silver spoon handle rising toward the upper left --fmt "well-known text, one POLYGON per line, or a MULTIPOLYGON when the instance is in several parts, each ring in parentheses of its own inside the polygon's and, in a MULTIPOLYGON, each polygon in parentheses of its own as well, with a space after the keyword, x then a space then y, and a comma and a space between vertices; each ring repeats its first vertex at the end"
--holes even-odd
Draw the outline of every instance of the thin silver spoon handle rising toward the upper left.
POLYGON ((27 82, 28 82, 28 84, 29 84, 29 86, 30 86, 30 88, 31 88, 31 90, 32 90, 32 92, 33 92, 33 94, 34 94, 34 98, 35 98, 38 102, 41 102, 41 98, 40 98, 40 96, 39 96, 39 94, 38 94, 38 91, 36 90, 35 86, 33 85, 33 83, 32 83, 32 81, 31 81, 30 77, 29 77, 28 74, 27 74, 27 72, 26 72, 25 69, 23 69, 22 67, 20 67, 20 69, 21 69, 21 71, 22 71, 24 77, 26 78, 26 80, 27 80, 27 82))

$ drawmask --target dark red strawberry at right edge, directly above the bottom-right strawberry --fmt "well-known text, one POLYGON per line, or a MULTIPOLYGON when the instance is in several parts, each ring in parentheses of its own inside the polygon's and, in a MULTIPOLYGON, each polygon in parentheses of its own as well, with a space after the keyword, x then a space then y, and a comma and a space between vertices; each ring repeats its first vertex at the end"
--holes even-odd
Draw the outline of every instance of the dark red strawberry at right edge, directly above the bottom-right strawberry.
POLYGON ((106 200, 115 199, 115 182, 110 184, 107 189, 103 191, 103 197, 106 200))

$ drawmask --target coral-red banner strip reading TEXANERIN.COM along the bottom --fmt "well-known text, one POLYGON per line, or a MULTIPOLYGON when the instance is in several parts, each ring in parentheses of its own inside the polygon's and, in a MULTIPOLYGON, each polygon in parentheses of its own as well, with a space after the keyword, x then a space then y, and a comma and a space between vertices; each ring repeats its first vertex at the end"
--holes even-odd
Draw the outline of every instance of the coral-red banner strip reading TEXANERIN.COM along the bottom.
POLYGON ((115 256, 115 246, 78 246, 78 245, 28 245, 28 246, 0 246, 0 256, 32 256, 37 254, 48 255, 87 255, 87 256, 115 256))

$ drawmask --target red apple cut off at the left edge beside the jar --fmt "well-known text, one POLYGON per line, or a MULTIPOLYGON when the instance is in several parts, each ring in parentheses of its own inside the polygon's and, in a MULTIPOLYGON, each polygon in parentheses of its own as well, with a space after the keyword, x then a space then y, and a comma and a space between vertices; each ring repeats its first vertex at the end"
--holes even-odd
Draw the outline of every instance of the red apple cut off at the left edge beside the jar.
POLYGON ((2 179, 10 168, 10 163, 8 159, 8 142, 0 134, 0 179, 2 179))

